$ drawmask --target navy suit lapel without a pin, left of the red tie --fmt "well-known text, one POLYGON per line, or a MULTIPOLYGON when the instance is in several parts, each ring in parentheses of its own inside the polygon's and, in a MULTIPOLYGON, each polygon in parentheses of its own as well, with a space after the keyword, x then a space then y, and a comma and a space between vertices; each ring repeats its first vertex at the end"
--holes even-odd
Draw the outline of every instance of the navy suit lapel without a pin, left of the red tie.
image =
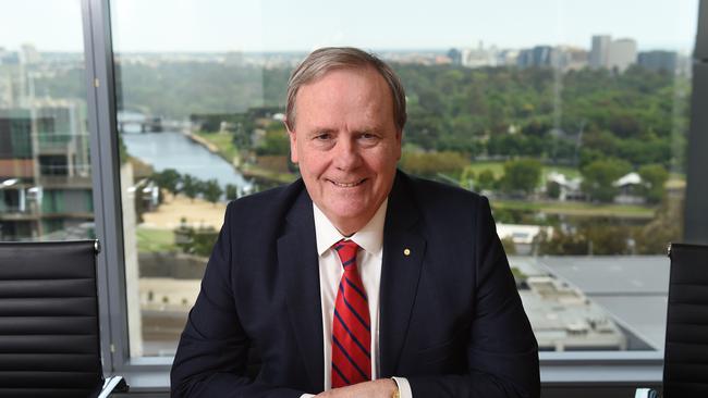
POLYGON ((278 239, 278 263, 286 279, 288 312, 300 356, 314 390, 325 385, 322 310, 312 201, 305 190, 288 214, 286 233, 278 239))

